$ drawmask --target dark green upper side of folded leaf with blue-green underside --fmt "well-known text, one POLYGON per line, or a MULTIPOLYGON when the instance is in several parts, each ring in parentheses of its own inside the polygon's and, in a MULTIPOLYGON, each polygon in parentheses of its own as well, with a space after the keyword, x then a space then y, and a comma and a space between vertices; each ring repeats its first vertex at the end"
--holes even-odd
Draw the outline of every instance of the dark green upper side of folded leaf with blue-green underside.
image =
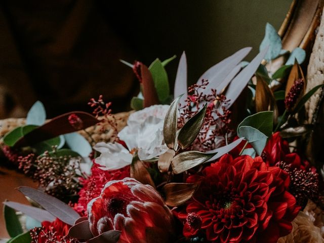
POLYGON ((261 111, 256 114, 247 116, 237 127, 237 136, 242 138, 244 135, 240 134, 239 128, 242 126, 250 126, 261 133, 270 137, 273 129, 273 111, 261 111))

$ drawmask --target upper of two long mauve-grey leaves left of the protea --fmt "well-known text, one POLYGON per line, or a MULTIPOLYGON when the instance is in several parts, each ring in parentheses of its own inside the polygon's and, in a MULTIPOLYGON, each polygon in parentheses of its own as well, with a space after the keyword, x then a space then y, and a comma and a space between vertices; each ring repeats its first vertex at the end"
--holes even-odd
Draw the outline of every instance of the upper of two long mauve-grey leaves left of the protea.
POLYGON ((18 187, 18 190, 68 225, 73 225, 74 221, 80 217, 78 213, 76 213, 70 206, 63 203, 63 201, 54 196, 48 195, 43 191, 27 186, 20 186, 18 187))

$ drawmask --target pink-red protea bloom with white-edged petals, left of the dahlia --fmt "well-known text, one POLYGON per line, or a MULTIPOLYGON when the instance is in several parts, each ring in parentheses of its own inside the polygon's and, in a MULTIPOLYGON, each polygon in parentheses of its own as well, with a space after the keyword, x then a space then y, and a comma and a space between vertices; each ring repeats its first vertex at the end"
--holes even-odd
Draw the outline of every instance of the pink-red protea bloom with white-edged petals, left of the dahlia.
POLYGON ((154 237, 172 242, 174 234, 173 216, 162 197, 132 178, 107 182, 88 204, 88 218, 94 236, 121 231, 118 243, 144 243, 154 237))

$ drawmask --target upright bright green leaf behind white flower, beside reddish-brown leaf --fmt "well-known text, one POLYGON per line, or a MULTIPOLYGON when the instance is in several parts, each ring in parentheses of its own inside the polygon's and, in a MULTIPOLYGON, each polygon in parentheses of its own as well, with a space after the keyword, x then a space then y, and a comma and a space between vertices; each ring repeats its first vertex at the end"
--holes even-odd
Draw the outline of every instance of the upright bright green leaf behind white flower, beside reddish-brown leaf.
POLYGON ((161 61, 156 58, 148 68, 152 74, 154 87, 160 102, 164 102, 170 94, 169 80, 166 69, 161 61))

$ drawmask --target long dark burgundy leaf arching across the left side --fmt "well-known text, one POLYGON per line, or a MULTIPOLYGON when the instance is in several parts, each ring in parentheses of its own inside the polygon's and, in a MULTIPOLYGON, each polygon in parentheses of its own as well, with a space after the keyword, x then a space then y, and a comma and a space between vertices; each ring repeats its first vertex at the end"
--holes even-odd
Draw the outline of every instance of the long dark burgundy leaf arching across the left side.
POLYGON ((83 111, 72 111, 54 117, 48 123, 44 124, 41 127, 38 127, 32 130, 30 133, 27 133, 24 137, 19 139, 14 145, 15 147, 23 147, 27 145, 33 145, 38 142, 42 142, 51 138, 55 138, 59 135, 76 132, 80 129, 86 129, 88 127, 94 126, 99 122, 99 120, 93 115, 83 112, 83 111), (72 126, 69 123, 70 115, 77 115, 80 120, 82 120, 82 127, 76 129, 75 126, 72 126))

